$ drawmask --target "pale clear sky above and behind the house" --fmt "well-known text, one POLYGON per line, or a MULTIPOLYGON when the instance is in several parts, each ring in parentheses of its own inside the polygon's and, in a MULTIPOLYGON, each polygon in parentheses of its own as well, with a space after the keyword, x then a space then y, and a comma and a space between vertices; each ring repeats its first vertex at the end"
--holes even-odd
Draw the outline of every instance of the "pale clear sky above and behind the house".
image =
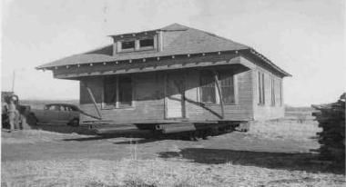
POLYGON ((21 99, 79 98, 77 81, 36 66, 111 44, 109 34, 187 25, 249 45, 292 77, 285 103, 334 102, 346 92, 343 0, 4 0, 2 91, 21 99))

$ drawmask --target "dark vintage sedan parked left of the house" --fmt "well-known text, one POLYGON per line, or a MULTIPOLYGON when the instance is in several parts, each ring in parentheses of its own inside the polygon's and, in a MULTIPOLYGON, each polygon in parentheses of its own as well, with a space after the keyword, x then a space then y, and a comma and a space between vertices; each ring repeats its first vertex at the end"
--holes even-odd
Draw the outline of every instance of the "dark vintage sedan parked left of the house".
POLYGON ((49 103, 43 110, 33 109, 28 123, 66 123, 71 126, 79 125, 80 110, 76 105, 68 103, 49 103))

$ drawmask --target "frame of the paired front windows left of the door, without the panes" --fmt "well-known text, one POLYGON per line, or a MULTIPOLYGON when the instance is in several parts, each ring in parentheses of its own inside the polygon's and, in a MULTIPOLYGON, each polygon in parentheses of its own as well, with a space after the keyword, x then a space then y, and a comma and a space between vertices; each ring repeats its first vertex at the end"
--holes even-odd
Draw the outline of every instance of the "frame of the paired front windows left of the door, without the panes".
POLYGON ((127 108, 134 108, 135 107, 135 92, 134 92, 134 79, 131 75, 117 75, 114 77, 116 80, 116 103, 115 104, 107 104, 105 102, 105 95, 106 95, 106 78, 103 79, 103 94, 102 94, 102 110, 112 110, 112 109, 127 109, 127 108), (129 77, 131 80, 131 102, 130 104, 121 104, 120 103, 120 95, 119 95, 119 79, 120 77, 129 77))

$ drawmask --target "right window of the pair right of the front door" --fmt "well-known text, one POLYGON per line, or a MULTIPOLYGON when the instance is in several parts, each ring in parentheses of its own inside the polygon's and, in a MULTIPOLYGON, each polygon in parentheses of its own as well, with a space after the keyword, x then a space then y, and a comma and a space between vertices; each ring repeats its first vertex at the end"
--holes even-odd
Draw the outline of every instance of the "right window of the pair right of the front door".
POLYGON ((236 103, 234 92, 234 76, 232 74, 219 74, 219 83, 223 103, 236 103))

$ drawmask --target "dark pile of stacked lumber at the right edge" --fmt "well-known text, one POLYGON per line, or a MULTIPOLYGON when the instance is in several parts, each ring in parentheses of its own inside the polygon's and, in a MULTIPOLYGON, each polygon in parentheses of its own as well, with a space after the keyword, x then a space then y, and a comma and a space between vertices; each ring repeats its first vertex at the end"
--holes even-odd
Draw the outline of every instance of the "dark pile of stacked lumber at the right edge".
POLYGON ((311 105, 318 112, 312 113, 323 130, 320 136, 321 159, 344 162, 345 159, 345 94, 336 103, 311 105))

